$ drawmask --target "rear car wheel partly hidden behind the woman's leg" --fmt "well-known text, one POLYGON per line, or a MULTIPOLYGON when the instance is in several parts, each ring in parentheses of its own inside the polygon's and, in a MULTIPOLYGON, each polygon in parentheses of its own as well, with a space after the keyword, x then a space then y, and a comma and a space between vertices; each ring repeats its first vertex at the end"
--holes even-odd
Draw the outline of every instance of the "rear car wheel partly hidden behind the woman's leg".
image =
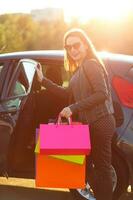
MULTIPOLYGON (((128 170, 124 161, 116 154, 112 159, 113 200, 118 200, 128 187, 128 170)), ((89 182, 85 189, 70 190, 73 200, 96 200, 89 182)))

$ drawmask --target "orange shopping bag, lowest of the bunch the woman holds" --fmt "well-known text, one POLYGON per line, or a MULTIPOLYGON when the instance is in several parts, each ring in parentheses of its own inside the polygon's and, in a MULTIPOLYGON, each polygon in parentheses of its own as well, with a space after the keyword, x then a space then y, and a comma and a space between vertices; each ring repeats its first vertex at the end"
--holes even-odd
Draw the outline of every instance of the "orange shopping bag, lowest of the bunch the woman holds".
POLYGON ((36 154, 36 187, 85 188, 85 165, 36 154))

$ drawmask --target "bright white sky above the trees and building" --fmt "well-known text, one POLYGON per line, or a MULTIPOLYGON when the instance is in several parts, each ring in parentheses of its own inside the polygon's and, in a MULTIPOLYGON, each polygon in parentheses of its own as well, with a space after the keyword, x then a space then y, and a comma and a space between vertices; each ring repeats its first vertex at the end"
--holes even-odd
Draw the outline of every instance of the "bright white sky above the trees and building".
POLYGON ((0 0, 0 14, 30 13, 33 9, 60 7, 67 18, 77 16, 85 21, 102 17, 115 20, 133 12, 133 0, 0 0))

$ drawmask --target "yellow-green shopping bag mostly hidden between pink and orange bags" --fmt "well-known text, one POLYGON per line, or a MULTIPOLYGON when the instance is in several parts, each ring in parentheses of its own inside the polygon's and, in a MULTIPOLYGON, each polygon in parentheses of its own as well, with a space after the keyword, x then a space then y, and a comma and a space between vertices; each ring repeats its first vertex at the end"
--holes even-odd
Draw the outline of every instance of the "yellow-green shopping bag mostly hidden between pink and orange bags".
MULTIPOLYGON (((38 129, 39 131, 39 129, 38 129)), ((36 146, 35 146, 35 153, 40 153, 40 136, 39 133, 36 133, 37 136, 37 142, 36 142, 36 146)), ((62 159, 62 160, 66 160, 68 162, 74 162, 77 164, 83 164, 84 160, 85 160, 85 155, 49 155, 52 156, 54 158, 57 159, 62 159)))

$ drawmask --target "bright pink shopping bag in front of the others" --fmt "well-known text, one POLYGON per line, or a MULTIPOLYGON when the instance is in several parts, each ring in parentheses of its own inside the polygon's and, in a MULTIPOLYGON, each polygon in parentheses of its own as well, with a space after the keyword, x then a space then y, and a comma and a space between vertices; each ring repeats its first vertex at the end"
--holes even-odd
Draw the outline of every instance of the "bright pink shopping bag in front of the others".
POLYGON ((88 155, 91 150, 89 126, 83 124, 40 124, 40 153, 47 155, 88 155))

